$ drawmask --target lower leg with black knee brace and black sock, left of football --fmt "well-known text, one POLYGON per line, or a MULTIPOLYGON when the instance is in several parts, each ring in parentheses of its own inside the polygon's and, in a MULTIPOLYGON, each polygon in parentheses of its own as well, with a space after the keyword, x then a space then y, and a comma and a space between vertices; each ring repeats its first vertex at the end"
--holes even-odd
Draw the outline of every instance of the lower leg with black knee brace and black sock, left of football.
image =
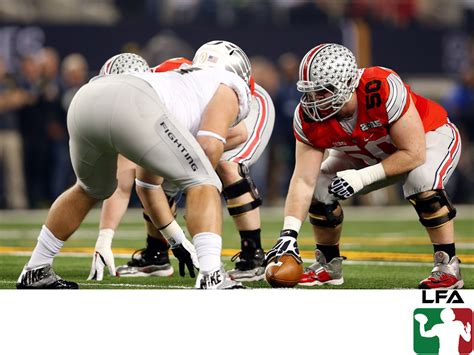
POLYGON ((232 260, 229 276, 238 281, 257 281, 264 277, 265 253, 261 242, 260 209, 262 200, 246 165, 220 161, 217 173, 224 185, 227 209, 240 234, 241 251, 232 260))

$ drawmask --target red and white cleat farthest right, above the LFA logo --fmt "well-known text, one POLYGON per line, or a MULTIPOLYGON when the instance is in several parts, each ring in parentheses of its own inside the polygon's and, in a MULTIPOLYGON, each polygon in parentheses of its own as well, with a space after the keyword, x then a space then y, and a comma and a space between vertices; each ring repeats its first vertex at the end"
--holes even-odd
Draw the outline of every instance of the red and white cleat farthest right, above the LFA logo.
POLYGON ((434 254, 435 266, 431 270, 431 275, 422 280, 418 285, 421 289, 454 289, 462 288, 464 281, 461 276, 459 264, 461 261, 457 256, 449 260, 449 255, 444 251, 437 251, 434 254))

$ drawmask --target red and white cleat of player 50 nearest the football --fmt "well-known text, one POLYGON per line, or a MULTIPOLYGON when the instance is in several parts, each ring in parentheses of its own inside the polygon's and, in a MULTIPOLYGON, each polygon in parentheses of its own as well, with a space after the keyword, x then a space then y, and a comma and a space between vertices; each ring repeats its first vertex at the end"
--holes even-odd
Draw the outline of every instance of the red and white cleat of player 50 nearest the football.
POLYGON ((316 262, 305 268, 301 275, 299 286, 321 286, 321 285, 342 285, 342 261, 346 258, 338 256, 330 262, 326 262, 324 254, 316 249, 316 262))

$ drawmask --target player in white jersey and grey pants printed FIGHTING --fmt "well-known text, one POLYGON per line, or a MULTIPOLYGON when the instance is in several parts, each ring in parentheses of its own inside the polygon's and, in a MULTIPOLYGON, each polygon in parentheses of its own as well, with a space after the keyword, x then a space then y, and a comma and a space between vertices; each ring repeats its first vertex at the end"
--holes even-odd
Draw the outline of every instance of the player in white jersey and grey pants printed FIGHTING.
MULTIPOLYGON (((215 168, 229 127, 250 111, 250 62, 230 42, 214 45, 222 49, 225 70, 99 75, 78 91, 68 111, 77 182, 51 206, 17 288, 78 288, 54 273, 53 258, 89 210, 115 191, 118 154, 137 164, 147 211, 162 201, 147 197, 163 194, 153 187, 163 178, 186 192, 186 224, 200 266, 196 286, 240 286, 221 265, 222 185, 215 168)), ((169 207, 160 211, 156 225, 174 220, 169 207)))

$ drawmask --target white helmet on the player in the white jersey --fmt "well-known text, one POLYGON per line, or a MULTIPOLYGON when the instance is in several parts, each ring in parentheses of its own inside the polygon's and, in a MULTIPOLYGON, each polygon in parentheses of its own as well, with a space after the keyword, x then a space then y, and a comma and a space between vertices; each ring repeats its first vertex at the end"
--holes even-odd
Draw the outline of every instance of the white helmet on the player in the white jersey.
POLYGON ((240 76, 250 86, 250 60, 237 45, 227 41, 210 41, 194 54, 194 67, 222 67, 240 76))

